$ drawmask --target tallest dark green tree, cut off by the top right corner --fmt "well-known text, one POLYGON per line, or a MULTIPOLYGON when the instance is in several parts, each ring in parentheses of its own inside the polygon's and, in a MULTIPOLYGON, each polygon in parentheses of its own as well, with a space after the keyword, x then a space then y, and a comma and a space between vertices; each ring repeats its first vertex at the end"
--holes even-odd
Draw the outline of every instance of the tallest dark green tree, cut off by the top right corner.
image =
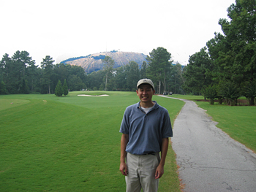
MULTIPOLYGON (((253 87, 256 80, 256 1, 236 0, 227 12, 230 20, 220 19, 219 24, 230 48, 219 52, 218 66, 227 74, 225 80, 231 80, 238 87, 244 83, 248 88, 253 87)), ((254 101, 253 95, 248 99, 254 101)))

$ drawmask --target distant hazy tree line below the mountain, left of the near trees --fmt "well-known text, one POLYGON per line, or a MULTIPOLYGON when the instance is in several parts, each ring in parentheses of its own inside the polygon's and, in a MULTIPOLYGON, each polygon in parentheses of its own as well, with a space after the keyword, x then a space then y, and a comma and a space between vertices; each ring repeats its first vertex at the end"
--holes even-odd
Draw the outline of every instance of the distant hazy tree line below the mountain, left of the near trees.
POLYGON ((129 61, 128 64, 114 69, 113 59, 105 57, 102 59, 104 68, 101 71, 86 74, 81 66, 53 64, 54 60, 49 55, 42 59, 39 67, 27 51, 18 50, 12 57, 5 54, 1 59, 0 94, 55 93, 58 82, 64 85, 65 80, 69 91, 135 91, 141 78, 154 80, 159 87, 159 93, 184 93, 181 88, 181 64, 173 66, 170 53, 163 47, 154 49, 150 54, 147 58, 150 64, 144 61, 141 68, 135 61, 129 61), (162 64, 158 65, 158 62, 162 64), (155 72, 157 77, 154 76, 155 72))

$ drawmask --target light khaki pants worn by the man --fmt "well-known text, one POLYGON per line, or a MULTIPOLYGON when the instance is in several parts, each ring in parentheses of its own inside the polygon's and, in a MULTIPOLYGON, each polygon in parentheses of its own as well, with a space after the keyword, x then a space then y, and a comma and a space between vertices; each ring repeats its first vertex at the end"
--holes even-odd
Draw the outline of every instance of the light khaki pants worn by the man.
POLYGON ((159 153, 154 155, 132 155, 127 153, 128 175, 125 177, 127 192, 156 192, 159 180, 154 178, 159 165, 159 153))

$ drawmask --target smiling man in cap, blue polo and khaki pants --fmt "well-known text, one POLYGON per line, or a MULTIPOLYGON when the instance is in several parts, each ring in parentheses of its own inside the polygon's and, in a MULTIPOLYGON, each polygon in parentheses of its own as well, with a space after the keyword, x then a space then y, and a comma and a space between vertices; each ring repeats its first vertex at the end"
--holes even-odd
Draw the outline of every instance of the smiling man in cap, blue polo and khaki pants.
POLYGON ((119 170, 125 176, 127 192, 140 192, 141 188, 154 192, 164 174, 168 137, 173 137, 173 131, 167 110, 152 101, 153 82, 139 80, 136 92, 140 101, 127 107, 121 123, 119 170))

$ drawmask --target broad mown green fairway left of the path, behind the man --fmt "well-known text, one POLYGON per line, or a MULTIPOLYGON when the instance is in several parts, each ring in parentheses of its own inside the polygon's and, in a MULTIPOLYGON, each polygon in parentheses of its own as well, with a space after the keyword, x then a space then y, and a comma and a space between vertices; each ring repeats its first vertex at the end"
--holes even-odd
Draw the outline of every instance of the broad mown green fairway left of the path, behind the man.
MULTIPOLYGON (((119 127, 136 93, 0 96, 0 191, 125 191, 119 127), (16 104, 15 107, 13 107, 16 104)), ((183 101, 154 96, 173 120, 183 101)), ((179 191, 175 154, 159 191, 179 191)))

